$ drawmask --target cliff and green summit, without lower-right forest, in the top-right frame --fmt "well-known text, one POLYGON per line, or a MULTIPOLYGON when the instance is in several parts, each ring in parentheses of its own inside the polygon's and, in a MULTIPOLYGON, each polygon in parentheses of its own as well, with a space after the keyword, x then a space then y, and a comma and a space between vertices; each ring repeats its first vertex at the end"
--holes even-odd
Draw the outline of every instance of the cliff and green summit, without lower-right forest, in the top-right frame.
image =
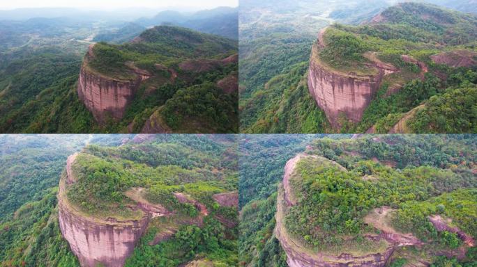
MULTIPOLYGON (((476 52, 465 44, 476 40, 476 22, 475 15, 400 3, 361 26, 334 24, 319 33, 312 47, 310 94, 333 128, 351 122, 361 131, 375 120, 365 111, 381 88, 386 94, 379 97, 392 98, 404 83, 425 80, 429 73, 442 80, 435 94, 447 86, 453 68, 474 67, 476 52)), ((422 102, 431 95, 418 98, 422 102)))

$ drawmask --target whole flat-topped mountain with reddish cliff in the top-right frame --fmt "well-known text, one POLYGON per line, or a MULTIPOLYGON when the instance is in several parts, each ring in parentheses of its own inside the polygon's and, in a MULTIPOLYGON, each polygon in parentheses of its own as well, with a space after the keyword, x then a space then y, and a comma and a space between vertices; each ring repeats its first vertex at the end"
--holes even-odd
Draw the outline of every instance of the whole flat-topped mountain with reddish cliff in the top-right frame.
POLYGON ((333 24, 312 47, 310 94, 338 131, 384 133, 405 118, 401 132, 472 132, 476 81, 466 75, 477 63, 476 32, 475 15, 423 3, 400 3, 359 26, 333 24), (453 100, 453 111, 432 106, 455 90, 467 99, 453 100))

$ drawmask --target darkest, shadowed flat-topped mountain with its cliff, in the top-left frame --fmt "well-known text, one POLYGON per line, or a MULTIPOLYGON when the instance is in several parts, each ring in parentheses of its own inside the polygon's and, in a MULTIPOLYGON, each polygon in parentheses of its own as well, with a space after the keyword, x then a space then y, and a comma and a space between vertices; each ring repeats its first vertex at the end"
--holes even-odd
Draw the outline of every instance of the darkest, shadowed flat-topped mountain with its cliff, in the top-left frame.
POLYGON ((162 108, 163 128, 233 132, 237 92, 218 90, 218 83, 236 75, 234 53, 233 40, 179 27, 157 26, 130 43, 100 42, 90 47, 79 74, 78 96, 103 127, 137 132, 146 122, 146 116, 167 104, 167 100, 181 97, 183 90, 190 96, 207 88, 213 94, 207 102, 194 95, 197 106, 190 103, 192 106, 176 108, 174 114, 167 106, 162 108), (202 110, 198 109, 201 105, 202 110), (202 121, 197 121, 199 118, 202 121), (192 126, 181 127, 186 124, 192 126), (205 130, 199 128, 202 124, 205 130))

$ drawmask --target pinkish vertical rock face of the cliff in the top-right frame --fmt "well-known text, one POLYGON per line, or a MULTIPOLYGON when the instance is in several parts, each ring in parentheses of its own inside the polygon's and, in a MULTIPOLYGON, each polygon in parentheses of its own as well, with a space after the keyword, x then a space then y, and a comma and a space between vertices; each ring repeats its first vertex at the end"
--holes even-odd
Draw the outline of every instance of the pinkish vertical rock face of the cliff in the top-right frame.
POLYGON ((370 67, 377 70, 375 75, 342 73, 331 70, 319 61, 319 50, 324 47, 324 33, 313 45, 308 72, 308 90, 324 110, 326 118, 335 128, 340 127, 338 118, 343 113, 348 120, 359 122, 363 112, 376 94, 385 74, 395 72, 393 66, 374 62, 370 67))

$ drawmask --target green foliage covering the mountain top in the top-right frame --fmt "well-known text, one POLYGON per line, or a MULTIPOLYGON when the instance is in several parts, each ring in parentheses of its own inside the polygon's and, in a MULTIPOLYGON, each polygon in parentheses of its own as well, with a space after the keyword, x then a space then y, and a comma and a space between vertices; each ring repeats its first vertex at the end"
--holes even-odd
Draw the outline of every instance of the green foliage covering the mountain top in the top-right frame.
POLYGON ((425 3, 400 3, 379 17, 360 26, 333 24, 324 34, 330 46, 321 51, 321 58, 339 68, 363 61, 364 51, 379 52, 381 60, 408 54, 429 62, 430 55, 444 49, 475 49, 476 15, 425 3))

